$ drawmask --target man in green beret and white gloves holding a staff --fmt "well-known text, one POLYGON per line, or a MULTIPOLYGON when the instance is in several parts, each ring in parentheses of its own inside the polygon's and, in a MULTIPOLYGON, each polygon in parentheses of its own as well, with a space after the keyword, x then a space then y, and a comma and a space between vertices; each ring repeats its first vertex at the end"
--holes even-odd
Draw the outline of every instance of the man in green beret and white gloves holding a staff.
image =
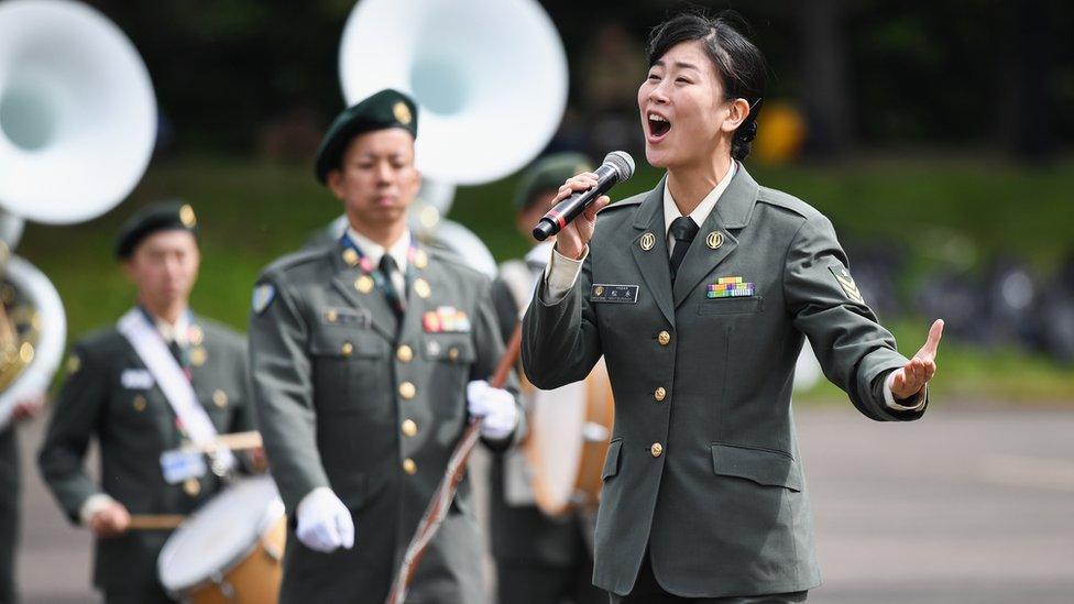
MULTIPOLYGON (((383 602, 469 418, 494 449, 522 429, 514 394, 483 381, 503 353, 491 283, 407 230, 416 132, 394 90, 343 111, 316 174, 347 230, 254 289, 254 398, 291 517, 284 603, 383 602)), ((463 479, 407 602, 483 602, 482 551, 463 479)))

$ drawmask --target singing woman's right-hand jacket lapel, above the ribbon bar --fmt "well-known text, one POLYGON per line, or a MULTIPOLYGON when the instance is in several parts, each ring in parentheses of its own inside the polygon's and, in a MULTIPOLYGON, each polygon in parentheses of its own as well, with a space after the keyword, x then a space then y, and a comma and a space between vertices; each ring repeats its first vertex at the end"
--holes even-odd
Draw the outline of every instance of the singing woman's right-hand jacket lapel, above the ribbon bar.
POLYGON ((693 238, 682 259, 679 276, 675 282, 675 308, 679 308, 698 283, 738 246, 738 240, 731 234, 731 230, 742 229, 749 222, 758 189, 745 166, 738 164, 738 172, 732 177, 727 190, 720 196, 715 208, 705 218, 698 237, 693 238), (723 239, 716 249, 708 243, 709 235, 713 232, 719 233, 714 237, 723 239))

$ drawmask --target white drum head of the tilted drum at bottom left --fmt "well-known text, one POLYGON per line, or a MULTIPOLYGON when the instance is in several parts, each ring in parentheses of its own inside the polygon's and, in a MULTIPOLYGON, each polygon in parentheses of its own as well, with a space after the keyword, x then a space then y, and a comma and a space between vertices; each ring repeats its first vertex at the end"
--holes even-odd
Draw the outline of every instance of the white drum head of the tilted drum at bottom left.
POLYGON ((228 487, 164 543, 156 563, 161 583, 178 593, 227 572, 283 515, 284 504, 268 476, 228 487))

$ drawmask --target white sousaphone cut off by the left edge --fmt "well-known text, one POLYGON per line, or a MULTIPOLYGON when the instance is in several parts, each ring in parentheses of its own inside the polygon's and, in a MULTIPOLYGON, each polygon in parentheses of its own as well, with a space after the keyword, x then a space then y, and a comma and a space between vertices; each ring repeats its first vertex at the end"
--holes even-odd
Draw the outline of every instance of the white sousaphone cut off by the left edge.
POLYGON ((156 99, 130 40, 72 0, 0 2, 0 427, 42 394, 63 356, 59 295, 11 255, 23 220, 99 216, 141 179, 156 139, 156 99))

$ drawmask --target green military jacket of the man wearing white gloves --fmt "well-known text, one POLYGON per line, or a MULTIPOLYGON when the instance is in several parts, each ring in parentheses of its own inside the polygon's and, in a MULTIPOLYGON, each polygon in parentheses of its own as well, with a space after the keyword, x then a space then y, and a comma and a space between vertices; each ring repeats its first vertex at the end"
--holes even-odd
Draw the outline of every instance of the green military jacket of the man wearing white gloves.
MULTIPOLYGON (((326 554, 292 523, 282 602, 386 597, 467 426, 467 383, 503 353, 485 276, 417 248, 407 282, 402 326, 341 243, 285 256, 254 290, 250 362, 273 477, 293 518, 327 486, 355 530, 353 549, 326 554)), ((464 479, 407 602, 482 602, 482 551, 464 479)))

